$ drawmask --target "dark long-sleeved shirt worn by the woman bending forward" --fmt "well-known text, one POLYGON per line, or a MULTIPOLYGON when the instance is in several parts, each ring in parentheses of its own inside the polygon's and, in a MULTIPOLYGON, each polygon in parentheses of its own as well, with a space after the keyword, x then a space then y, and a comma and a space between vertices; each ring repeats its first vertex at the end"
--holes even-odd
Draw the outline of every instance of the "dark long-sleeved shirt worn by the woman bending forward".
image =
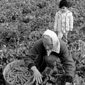
MULTIPOLYGON (((47 55, 46 50, 43 46, 42 39, 35 42, 34 46, 29 51, 30 58, 32 59, 29 64, 29 68, 36 66, 40 72, 46 67, 44 56, 47 55)), ((55 53, 58 56, 64 66, 65 74, 67 76, 74 77, 75 63, 72 56, 69 55, 67 46, 64 41, 60 40, 60 53, 55 53)))

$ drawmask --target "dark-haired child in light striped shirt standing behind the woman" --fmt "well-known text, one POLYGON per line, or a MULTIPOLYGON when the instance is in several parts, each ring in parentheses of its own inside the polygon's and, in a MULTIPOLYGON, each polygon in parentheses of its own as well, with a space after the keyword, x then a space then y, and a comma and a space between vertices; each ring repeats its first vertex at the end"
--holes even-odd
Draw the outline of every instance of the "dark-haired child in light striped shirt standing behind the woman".
POLYGON ((60 10, 55 15, 54 31, 60 39, 64 38, 67 42, 68 32, 73 30, 73 14, 68 9, 69 4, 66 0, 60 1, 59 8, 60 10))

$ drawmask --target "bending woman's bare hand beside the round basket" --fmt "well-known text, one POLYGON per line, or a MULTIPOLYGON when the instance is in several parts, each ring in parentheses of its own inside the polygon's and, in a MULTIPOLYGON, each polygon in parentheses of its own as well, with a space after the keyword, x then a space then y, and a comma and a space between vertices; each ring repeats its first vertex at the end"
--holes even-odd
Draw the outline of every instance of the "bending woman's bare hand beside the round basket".
POLYGON ((34 72, 33 81, 36 81, 36 85, 41 84, 42 83, 42 75, 41 75, 41 73, 38 71, 38 69, 35 66, 33 66, 31 68, 31 70, 34 72))

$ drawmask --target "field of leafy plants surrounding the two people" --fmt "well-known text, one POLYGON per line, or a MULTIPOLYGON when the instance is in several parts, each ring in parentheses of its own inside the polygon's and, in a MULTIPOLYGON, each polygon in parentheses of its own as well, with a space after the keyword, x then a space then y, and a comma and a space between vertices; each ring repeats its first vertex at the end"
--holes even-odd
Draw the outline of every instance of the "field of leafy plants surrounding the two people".
MULTIPOLYGON (((53 29, 59 1, 0 0, 0 75, 8 63, 28 55, 29 49, 41 38, 44 30, 53 29)), ((74 85, 85 85, 85 0, 68 2, 74 16, 74 28, 68 34, 68 49, 76 63, 74 85)), ((43 75, 50 73, 48 69, 43 75)), ((60 64, 58 73, 62 73, 60 64)), ((43 85, 55 85, 56 82, 59 85, 60 77, 55 81, 56 76, 50 73, 50 78, 53 79, 51 84, 45 77, 43 85)), ((2 80, 0 82, 4 85, 2 80)))

